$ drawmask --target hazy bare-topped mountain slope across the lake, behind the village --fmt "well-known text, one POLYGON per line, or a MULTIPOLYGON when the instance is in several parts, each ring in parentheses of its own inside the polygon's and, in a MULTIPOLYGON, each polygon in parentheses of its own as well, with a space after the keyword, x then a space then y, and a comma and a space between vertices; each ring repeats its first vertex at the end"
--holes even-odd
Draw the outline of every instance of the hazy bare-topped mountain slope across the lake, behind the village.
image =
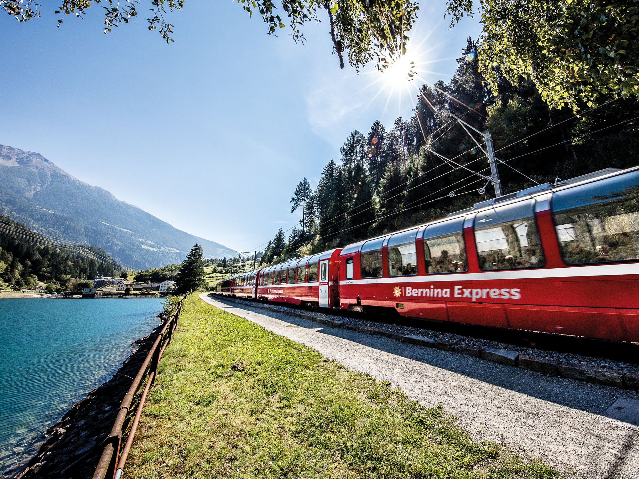
POLYGON ((199 243, 206 257, 235 251, 174 228, 73 178, 39 153, 0 145, 0 213, 34 231, 104 248, 118 261, 145 269, 181 262, 199 243))

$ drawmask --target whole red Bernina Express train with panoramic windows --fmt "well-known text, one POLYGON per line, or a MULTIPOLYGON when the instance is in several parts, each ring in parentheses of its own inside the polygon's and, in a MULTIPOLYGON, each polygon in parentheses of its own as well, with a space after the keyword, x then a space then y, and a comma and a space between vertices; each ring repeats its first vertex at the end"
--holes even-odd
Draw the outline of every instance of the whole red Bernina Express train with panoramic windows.
POLYGON ((639 167, 229 278, 217 293, 639 342, 639 167))

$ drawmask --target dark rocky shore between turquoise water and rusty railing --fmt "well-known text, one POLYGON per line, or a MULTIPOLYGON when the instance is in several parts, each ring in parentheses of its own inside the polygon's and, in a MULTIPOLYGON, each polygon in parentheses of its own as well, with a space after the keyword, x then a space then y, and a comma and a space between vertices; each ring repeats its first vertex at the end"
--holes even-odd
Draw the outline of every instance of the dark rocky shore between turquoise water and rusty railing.
POLYGON ((13 468, 15 479, 79 479, 93 476, 109 436, 118 407, 133 383, 146 354, 164 326, 167 318, 158 315, 160 325, 150 335, 131 344, 135 351, 123 361, 113 377, 102 386, 73 404, 62 420, 51 426, 42 439, 44 443, 35 457, 13 468))

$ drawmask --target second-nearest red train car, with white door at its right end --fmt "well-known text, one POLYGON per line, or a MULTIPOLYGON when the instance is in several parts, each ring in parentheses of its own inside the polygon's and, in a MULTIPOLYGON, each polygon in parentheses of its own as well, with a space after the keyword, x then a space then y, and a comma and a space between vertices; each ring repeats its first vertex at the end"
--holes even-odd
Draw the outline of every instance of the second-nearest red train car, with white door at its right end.
POLYGON ((323 308, 339 305, 339 252, 338 248, 261 270, 256 299, 323 308))

